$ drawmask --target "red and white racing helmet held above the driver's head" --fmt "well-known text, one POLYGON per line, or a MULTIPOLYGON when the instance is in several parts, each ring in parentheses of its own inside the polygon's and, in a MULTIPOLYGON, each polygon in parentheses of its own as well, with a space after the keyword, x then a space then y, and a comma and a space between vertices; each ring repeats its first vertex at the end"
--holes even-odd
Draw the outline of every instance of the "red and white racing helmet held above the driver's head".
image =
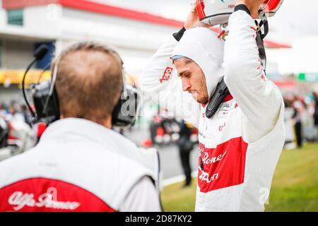
MULTIPOLYGON (((266 16, 274 16, 283 0, 266 0, 261 5, 266 16)), ((196 0, 196 11, 203 23, 218 25, 228 23, 230 14, 234 11, 235 0, 196 0)))

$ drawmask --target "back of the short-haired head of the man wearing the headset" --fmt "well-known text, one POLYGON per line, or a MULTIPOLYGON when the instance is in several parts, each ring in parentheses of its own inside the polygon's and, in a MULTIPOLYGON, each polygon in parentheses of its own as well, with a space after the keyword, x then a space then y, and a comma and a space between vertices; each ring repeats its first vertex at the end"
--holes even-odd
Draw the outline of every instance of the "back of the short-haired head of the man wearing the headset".
POLYGON ((122 92, 119 54, 103 44, 81 42, 61 52, 52 62, 52 73, 55 64, 61 115, 103 124, 122 92))

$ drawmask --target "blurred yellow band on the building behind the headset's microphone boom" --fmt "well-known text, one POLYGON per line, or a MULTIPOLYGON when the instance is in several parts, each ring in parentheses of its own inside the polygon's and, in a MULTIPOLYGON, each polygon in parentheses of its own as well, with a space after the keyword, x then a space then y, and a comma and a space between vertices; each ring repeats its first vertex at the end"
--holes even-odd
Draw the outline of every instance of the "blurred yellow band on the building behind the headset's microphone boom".
MULTIPOLYGON (((0 70, 0 84, 21 84, 25 71, 0 70)), ((25 83, 37 83, 51 78, 51 71, 31 70, 25 78, 25 83)))

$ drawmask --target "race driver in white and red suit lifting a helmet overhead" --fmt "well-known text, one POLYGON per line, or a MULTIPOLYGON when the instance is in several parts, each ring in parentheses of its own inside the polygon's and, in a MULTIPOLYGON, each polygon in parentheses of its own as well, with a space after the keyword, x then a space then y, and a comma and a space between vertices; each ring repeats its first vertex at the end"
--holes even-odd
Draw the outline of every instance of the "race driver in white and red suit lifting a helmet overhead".
POLYGON ((192 11, 151 57, 141 88, 199 128, 196 211, 263 211, 285 139, 283 98, 259 59, 254 19, 264 0, 241 0, 225 42, 192 11), (230 94, 206 104, 224 78, 230 94))

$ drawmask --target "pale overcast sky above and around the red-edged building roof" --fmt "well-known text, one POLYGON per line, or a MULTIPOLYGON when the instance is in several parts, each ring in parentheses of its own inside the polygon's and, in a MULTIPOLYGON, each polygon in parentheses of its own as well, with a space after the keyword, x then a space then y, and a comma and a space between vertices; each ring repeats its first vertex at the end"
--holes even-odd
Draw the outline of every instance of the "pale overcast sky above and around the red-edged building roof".
MULTIPOLYGON (((165 18, 184 21, 193 0, 92 0, 131 8, 165 18)), ((284 0, 273 18, 269 18, 268 40, 290 44, 293 49, 270 50, 280 73, 318 73, 317 0, 284 0)))

